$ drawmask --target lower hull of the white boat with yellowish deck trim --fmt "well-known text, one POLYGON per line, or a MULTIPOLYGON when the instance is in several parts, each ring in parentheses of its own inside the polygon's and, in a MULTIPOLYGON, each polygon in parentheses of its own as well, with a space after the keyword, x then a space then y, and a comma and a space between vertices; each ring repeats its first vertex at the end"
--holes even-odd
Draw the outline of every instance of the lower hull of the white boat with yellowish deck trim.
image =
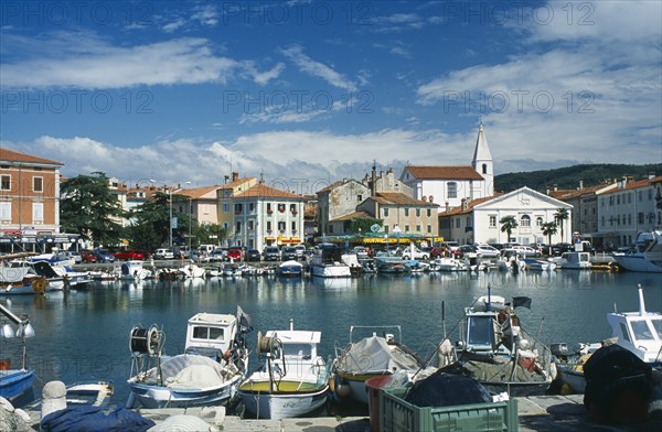
POLYGON ((239 390, 246 410, 258 419, 289 419, 308 414, 324 403, 329 386, 310 392, 258 392, 239 390))

